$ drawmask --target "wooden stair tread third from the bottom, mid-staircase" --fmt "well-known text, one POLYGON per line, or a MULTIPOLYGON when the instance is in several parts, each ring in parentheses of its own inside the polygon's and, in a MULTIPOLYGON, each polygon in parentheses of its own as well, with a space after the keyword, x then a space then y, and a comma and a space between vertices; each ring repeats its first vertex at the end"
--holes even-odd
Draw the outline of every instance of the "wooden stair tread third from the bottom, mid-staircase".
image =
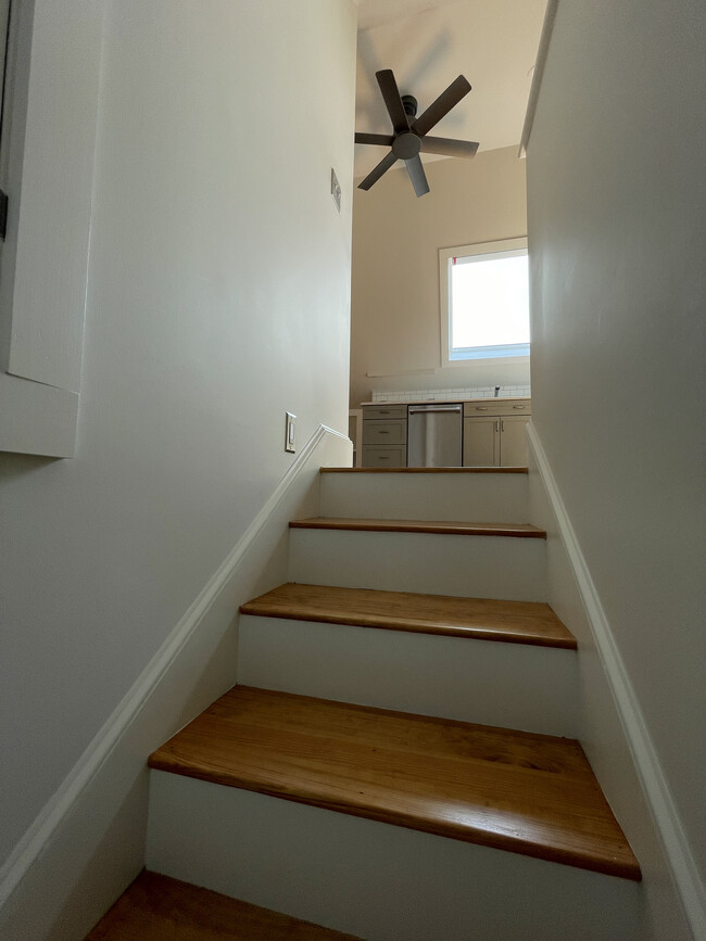
POLYGON ((240 608, 242 614, 323 621, 424 634, 576 649, 549 605, 415 595, 328 585, 280 585, 240 608))

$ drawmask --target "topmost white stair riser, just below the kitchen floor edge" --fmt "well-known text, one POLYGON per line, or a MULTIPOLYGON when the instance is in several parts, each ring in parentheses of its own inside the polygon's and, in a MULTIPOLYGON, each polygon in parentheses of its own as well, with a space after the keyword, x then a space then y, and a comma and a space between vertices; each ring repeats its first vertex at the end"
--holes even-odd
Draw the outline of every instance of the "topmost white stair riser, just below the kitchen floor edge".
POLYGON ((526 523, 527 474, 322 474, 323 517, 526 523))

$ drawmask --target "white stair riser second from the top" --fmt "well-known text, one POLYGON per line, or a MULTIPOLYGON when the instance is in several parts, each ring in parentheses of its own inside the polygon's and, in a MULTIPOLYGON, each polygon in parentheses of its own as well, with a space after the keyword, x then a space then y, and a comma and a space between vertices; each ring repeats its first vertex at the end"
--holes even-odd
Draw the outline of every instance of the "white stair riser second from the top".
POLYGON ((544 601, 544 539, 290 530, 289 580, 513 601, 544 601))

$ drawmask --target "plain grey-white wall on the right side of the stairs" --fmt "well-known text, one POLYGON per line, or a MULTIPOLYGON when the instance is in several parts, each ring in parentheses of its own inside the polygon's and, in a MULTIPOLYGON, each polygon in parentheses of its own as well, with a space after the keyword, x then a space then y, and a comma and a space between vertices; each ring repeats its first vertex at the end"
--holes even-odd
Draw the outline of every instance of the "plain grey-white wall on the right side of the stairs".
POLYGON ((559 0, 527 161, 533 423, 696 859, 695 891, 705 24, 690 2, 559 0))

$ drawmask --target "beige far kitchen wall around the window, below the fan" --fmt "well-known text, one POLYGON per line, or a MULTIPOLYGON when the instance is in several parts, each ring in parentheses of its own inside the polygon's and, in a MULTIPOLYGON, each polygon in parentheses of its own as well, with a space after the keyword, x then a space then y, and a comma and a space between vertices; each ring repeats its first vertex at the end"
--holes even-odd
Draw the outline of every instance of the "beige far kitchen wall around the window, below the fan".
POLYGON ((527 357, 441 369, 439 319, 439 249, 526 234, 525 161, 503 148, 426 173, 419 199, 404 167, 355 190, 352 408, 373 391, 529 384, 527 357))

